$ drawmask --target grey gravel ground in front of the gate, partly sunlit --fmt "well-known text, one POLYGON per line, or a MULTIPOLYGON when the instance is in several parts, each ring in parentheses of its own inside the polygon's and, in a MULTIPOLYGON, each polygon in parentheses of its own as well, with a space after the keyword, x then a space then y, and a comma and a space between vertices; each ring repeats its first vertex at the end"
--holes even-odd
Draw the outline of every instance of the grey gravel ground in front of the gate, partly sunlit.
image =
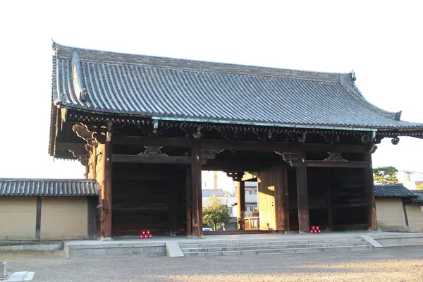
POLYGON ((232 257, 68 259, 63 252, 0 252, 33 281, 423 281, 423 247, 232 257))

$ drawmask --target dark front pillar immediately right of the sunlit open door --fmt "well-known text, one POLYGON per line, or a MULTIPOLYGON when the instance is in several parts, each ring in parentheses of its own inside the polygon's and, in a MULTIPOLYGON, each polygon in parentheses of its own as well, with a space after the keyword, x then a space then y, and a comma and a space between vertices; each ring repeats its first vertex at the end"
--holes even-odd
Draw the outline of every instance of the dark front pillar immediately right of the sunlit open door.
POLYGON ((298 150, 297 157, 298 228, 300 233, 307 233, 309 231, 309 209, 307 191, 307 166, 305 164, 304 150, 298 150))

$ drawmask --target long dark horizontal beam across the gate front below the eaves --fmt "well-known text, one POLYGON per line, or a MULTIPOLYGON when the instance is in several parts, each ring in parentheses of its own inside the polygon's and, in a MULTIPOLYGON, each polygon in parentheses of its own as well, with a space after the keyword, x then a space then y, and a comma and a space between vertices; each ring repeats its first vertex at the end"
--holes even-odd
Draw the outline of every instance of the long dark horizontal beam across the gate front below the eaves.
MULTIPOLYGON (((196 142, 191 138, 178 137, 147 137, 147 136, 114 136, 116 145, 161 145, 163 147, 191 147, 196 142)), ((252 152, 283 152, 294 153, 298 143, 294 142, 265 142, 265 141, 240 141, 240 140, 200 140, 202 149, 252 152)), ((364 153, 364 146, 357 145, 331 145, 304 143, 302 146, 310 152, 339 152, 339 153, 364 153)))

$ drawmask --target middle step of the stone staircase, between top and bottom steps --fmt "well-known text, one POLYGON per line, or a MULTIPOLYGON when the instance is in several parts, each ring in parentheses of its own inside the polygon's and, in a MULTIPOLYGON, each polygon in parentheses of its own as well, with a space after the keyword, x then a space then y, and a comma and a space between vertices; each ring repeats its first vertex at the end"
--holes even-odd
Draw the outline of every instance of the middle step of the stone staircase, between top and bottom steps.
MULTIPOLYGON (((337 243, 321 243, 321 244, 297 244, 297 245, 281 245, 281 244, 274 244, 274 245, 243 245, 243 246, 214 246, 214 247, 188 247, 188 248, 181 248, 182 252, 217 252, 217 251, 235 251, 235 250, 267 250, 267 249, 298 249, 298 248, 305 248, 305 247, 337 247, 340 244, 337 243)), ((343 246, 347 247, 354 247, 364 245, 364 242, 356 242, 356 243, 343 243, 343 246)))

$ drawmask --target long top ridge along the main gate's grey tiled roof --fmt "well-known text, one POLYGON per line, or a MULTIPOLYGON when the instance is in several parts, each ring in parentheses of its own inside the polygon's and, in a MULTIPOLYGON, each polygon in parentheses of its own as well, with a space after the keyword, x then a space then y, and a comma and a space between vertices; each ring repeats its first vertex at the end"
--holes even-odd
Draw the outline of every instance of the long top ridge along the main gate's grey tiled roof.
POLYGON ((329 73, 318 71, 302 71, 288 68, 271 68, 266 66, 252 66, 235 63, 219 63, 212 61, 198 61, 190 59, 176 59, 161 56, 120 53, 68 47, 53 43, 56 57, 72 59, 73 51, 78 52, 80 61, 95 61, 102 63, 116 63, 134 66, 156 66, 161 68, 175 68, 179 70, 206 71, 216 73, 234 73, 239 75, 271 76, 276 78, 293 78, 297 80, 317 80, 339 83, 341 79, 352 80, 351 73, 329 73))

